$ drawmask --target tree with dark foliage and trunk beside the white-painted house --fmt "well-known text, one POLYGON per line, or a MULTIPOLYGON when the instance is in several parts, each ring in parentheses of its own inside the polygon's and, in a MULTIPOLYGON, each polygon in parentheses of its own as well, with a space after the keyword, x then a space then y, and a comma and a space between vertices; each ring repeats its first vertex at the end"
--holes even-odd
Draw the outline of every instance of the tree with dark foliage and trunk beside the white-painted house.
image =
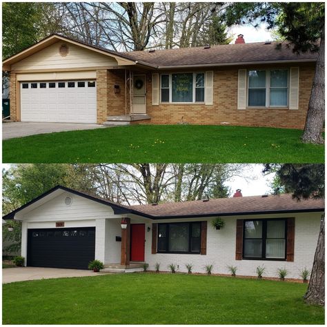
MULTIPOLYGON (((283 164, 265 165, 264 172, 276 170, 281 186, 293 197, 301 199, 324 198, 325 170, 324 164, 283 164)), ((309 304, 325 304, 325 217, 321 217, 319 237, 310 283, 304 299, 309 304)))

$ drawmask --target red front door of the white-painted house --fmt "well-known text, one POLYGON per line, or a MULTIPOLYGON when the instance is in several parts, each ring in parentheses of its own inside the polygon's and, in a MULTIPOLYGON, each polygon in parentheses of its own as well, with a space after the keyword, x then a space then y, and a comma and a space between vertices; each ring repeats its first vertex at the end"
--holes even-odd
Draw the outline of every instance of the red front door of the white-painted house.
POLYGON ((144 261, 146 225, 130 225, 130 261, 144 261))

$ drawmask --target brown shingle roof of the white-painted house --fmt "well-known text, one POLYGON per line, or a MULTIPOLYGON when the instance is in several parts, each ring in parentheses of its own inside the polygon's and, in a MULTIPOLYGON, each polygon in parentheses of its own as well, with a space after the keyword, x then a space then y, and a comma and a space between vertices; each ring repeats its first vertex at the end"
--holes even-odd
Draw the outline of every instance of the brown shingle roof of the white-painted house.
POLYGON ((259 212, 297 212, 324 210, 324 199, 297 201, 291 195, 269 195, 268 197, 232 197, 209 201, 186 201, 157 206, 129 206, 152 217, 183 217, 210 215, 239 215, 259 212))

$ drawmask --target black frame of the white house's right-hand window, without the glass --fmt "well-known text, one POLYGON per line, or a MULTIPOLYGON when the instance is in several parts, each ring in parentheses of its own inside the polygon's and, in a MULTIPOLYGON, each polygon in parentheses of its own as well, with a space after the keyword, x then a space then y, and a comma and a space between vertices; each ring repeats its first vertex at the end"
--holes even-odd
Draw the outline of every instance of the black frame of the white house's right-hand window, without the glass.
POLYGON ((266 219, 244 219, 242 230, 242 260, 265 260, 265 261, 286 261, 287 255, 287 218, 266 218, 266 219), (285 224, 285 255, 284 258, 266 258, 266 239, 267 239, 267 221, 284 220, 285 224), (262 224, 262 257, 244 257, 244 242, 245 242, 245 225, 246 221, 263 221, 262 224))

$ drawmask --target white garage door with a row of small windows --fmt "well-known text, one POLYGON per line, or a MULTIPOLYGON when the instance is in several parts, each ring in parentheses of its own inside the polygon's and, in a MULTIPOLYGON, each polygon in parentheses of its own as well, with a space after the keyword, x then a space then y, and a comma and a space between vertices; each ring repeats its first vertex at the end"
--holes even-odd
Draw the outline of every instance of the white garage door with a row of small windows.
POLYGON ((96 82, 21 82, 21 121, 96 123, 96 82))

